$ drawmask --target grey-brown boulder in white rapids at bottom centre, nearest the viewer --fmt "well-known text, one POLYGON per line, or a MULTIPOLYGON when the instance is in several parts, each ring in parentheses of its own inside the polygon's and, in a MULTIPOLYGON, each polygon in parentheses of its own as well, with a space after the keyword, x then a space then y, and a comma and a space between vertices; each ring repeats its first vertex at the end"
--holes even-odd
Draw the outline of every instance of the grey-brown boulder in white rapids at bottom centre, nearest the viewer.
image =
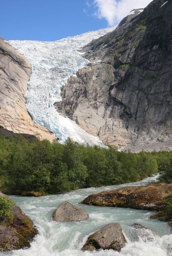
POLYGON ((111 223, 88 237, 82 250, 113 249, 118 252, 127 243, 119 223, 111 223))

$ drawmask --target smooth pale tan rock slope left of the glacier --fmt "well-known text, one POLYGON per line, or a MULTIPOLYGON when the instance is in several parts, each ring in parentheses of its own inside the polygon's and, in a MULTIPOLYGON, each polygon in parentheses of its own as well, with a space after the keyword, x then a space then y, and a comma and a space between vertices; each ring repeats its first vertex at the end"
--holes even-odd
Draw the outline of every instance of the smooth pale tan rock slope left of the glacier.
POLYGON ((31 74, 31 64, 7 41, 0 38, 0 125, 15 133, 39 133, 42 139, 55 136, 32 121, 26 110, 25 93, 31 74))

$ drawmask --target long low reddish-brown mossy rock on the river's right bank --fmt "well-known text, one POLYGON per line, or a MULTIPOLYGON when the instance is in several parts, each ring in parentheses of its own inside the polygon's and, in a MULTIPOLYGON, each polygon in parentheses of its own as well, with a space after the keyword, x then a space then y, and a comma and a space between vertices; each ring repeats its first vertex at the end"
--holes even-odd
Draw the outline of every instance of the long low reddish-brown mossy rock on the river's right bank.
POLYGON ((164 199, 170 195, 172 195, 172 184, 158 183, 145 187, 130 186, 103 191, 88 196, 81 203, 157 211, 165 209, 164 199))

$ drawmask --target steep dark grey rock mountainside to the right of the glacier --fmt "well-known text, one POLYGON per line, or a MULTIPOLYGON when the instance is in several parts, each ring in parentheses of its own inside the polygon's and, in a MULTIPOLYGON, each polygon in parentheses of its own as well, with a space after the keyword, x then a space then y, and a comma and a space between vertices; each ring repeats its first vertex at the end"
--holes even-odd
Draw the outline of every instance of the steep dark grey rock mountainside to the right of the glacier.
POLYGON ((172 1, 165 2, 133 10, 86 45, 90 64, 63 87, 58 111, 106 144, 171 149, 172 1))

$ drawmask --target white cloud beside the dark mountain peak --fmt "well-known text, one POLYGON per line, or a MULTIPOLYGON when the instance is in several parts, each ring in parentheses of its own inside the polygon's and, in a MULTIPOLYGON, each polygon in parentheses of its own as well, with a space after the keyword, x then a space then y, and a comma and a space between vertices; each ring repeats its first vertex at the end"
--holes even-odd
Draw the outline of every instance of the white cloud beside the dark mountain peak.
POLYGON ((109 26, 114 26, 133 9, 146 7, 152 0, 94 0, 97 8, 95 16, 105 18, 109 26))

